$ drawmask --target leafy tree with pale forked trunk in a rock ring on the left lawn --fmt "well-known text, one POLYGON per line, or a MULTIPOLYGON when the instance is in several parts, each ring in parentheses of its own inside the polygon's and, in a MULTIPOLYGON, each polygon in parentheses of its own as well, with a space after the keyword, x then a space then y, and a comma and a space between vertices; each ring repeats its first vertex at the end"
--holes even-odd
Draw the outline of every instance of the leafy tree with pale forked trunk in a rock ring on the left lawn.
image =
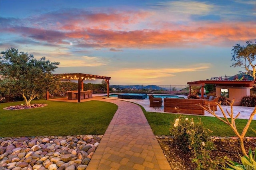
POLYGON ((0 74, 4 76, 1 88, 7 89, 7 95, 23 96, 26 105, 42 95, 54 84, 52 71, 58 68, 58 62, 51 63, 45 57, 37 60, 33 55, 18 52, 18 49, 6 49, 0 56, 0 74), (12 86, 10 86, 12 84, 12 86))

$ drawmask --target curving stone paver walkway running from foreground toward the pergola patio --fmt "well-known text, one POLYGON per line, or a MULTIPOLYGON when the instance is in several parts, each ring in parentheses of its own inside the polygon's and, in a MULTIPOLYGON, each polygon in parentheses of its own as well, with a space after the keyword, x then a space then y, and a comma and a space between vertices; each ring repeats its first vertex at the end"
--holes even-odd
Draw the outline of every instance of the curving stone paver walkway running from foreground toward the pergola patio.
POLYGON ((120 100, 100 100, 118 105, 118 110, 86 170, 171 169, 138 105, 120 100))

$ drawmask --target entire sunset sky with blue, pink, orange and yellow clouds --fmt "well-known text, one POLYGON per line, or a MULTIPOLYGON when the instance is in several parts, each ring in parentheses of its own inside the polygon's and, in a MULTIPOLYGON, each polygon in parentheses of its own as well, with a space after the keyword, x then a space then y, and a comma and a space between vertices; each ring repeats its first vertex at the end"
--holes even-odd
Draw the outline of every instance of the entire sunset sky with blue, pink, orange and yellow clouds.
POLYGON ((115 85, 233 76, 245 70, 230 67, 232 47, 254 39, 255 0, 0 0, 0 51, 115 85))

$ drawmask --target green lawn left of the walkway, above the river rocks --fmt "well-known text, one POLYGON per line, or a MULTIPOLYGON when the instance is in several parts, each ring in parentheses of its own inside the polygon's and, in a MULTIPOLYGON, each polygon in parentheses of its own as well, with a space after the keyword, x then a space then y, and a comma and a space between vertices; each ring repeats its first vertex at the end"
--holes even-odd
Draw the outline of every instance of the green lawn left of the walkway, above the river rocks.
POLYGON ((24 102, 0 104, 0 137, 103 135, 118 108, 115 104, 101 101, 73 103, 32 100, 32 103, 48 106, 3 110, 4 107, 24 102))

